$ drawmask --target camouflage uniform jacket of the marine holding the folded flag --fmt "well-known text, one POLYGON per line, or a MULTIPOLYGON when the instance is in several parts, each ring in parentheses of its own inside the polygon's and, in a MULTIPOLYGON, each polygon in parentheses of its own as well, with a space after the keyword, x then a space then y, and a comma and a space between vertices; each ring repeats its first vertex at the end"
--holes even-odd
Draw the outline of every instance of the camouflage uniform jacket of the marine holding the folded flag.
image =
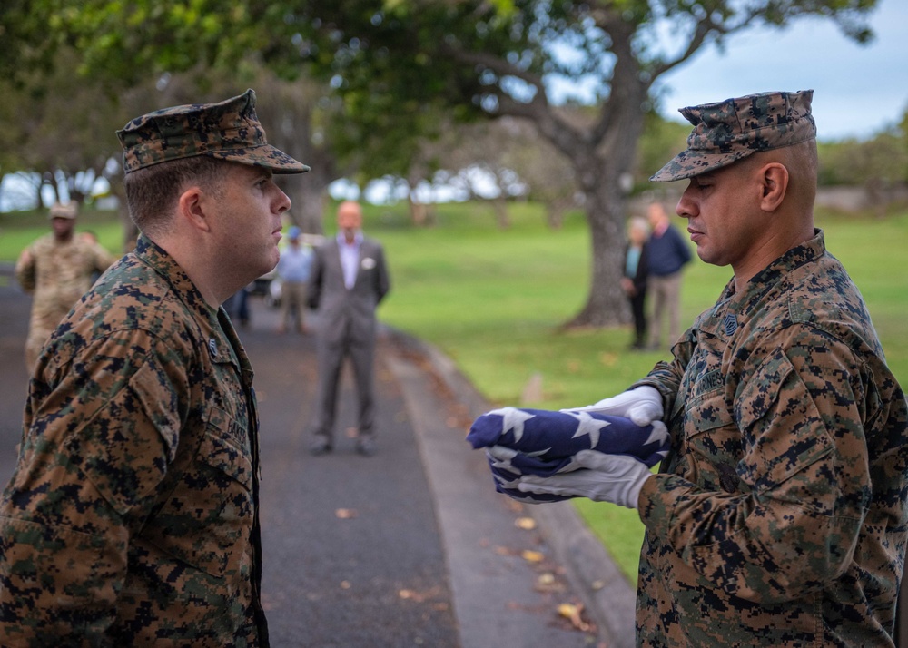
POLYGON ((645 646, 893 645, 908 405, 822 231, 729 283, 638 385, 672 449, 646 481, 645 646))

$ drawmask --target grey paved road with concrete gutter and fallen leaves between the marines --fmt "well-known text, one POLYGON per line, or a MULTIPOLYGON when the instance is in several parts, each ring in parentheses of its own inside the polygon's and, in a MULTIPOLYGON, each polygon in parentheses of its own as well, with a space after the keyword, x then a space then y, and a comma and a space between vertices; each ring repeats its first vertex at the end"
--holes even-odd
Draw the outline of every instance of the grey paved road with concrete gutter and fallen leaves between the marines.
MULTIPOLYGON (((30 302, 3 284, 0 277, 0 482, 5 483, 21 434, 30 302)), ((262 418, 262 589, 273 645, 626 643, 624 637, 602 641, 612 623, 607 618, 597 637, 594 629, 577 630, 558 615, 558 604, 579 604, 577 593, 588 594, 582 582, 568 578, 569 565, 566 570, 564 561, 558 562, 554 548, 561 545, 568 555, 584 552, 573 541, 565 545, 564 533, 518 527, 528 512, 493 492, 484 459, 463 440, 483 404, 475 398, 463 402, 463 394, 439 379, 438 358, 432 364, 419 344, 384 335, 377 362, 378 454, 360 457, 346 437, 354 397, 345 372, 335 450, 311 457, 306 447, 314 340, 275 335, 275 325, 276 313, 252 299, 252 325, 241 336, 256 370, 262 418)), ((547 515, 559 510, 547 507, 547 515)), ((560 519, 549 520, 549 527, 563 531, 568 523, 560 519)), ((602 561, 596 556, 593 562, 591 573, 599 574, 602 561)), ((614 576, 607 571, 605 578, 614 576)), ((603 586, 603 576, 597 578, 595 595, 627 619, 626 584, 614 594, 603 586)))

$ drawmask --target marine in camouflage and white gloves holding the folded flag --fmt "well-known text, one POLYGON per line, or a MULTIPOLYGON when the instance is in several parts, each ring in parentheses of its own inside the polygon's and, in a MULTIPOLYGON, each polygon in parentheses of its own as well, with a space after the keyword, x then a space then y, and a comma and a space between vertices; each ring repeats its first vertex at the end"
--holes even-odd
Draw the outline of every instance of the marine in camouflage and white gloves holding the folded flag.
POLYGON ((646 378, 589 409, 666 422, 652 475, 586 470, 521 490, 637 508, 641 646, 891 646, 908 533, 908 406, 864 300, 814 229, 813 91, 681 112, 653 176, 697 254, 734 278, 646 378))

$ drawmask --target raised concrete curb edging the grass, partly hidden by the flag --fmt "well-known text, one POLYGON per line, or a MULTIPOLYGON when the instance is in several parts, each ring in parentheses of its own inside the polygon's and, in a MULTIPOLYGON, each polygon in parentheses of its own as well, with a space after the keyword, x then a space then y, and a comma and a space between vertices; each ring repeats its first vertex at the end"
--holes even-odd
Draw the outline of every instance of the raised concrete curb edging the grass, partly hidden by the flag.
MULTIPOLYGON (((453 398, 466 407, 469 417, 490 409, 489 403, 459 371, 451 358, 427 342, 399 330, 383 327, 398 348, 425 358, 453 398)), ((559 565, 583 600, 587 614, 597 624, 599 638, 610 648, 635 644, 635 588, 627 583, 606 548, 587 527, 569 502, 525 506, 551 546, 559 565)))

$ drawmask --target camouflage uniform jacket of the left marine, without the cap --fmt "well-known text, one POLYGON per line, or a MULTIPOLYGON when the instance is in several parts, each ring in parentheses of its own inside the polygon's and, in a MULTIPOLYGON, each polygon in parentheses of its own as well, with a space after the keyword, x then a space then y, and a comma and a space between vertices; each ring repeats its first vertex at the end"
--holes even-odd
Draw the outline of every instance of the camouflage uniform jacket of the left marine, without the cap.
POLYGON ((267 646, 252 368, 140 237, 56 329, 0 499, 0 645, 267 646))

